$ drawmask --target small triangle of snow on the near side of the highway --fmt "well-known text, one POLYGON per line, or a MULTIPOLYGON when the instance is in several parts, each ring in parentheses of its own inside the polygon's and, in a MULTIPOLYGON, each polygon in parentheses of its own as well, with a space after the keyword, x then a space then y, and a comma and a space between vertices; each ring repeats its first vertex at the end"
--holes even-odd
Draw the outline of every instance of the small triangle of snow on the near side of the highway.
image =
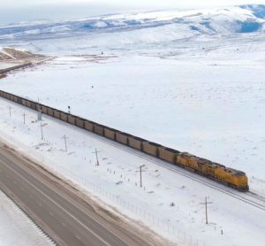
POLYGON ((0 245, 53 245, 46 235, 0 190, 0 245))

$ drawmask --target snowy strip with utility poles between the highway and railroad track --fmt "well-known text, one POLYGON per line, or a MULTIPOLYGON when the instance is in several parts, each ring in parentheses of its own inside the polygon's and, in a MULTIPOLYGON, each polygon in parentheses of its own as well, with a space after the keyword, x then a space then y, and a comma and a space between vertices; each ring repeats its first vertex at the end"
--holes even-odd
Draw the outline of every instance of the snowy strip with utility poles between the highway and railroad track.
POLYGON ((181 245, 264 244, 264 211, 49 117, 42 120, 42 140, 34 111, 1 98, 0 103, 0 135, 5 141, 77 183, 110 211, 139 220, 181 245), (95 165, 95 149, 99 166, 95 165), (142 188, 140 165, 145 165, 142 188), (208 225, 201 204, 205 196, 213 203, 208 206, 208 225))

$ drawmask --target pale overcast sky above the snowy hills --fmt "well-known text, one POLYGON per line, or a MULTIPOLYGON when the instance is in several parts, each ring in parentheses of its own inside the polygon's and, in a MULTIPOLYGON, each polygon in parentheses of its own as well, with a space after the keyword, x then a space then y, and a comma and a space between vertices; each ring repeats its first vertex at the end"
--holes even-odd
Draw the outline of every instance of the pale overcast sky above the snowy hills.
POLYGON ((34 19, 79 19, 117 12, 237 4, 265 4, 265 0, 0 0, 0 25, 34 19))

